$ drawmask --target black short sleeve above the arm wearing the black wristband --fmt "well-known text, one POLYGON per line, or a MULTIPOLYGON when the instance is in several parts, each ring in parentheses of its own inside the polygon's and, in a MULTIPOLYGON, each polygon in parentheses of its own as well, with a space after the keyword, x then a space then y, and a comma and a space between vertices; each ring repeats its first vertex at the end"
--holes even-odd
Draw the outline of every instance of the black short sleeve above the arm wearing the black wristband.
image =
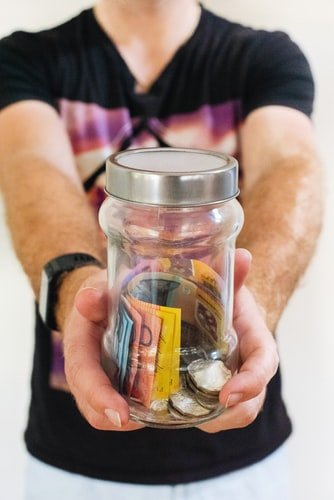
POLYGON ((46 52, 37 34, 16 32, 0 41, 0 109, 26 99, 54 106, 46 52))

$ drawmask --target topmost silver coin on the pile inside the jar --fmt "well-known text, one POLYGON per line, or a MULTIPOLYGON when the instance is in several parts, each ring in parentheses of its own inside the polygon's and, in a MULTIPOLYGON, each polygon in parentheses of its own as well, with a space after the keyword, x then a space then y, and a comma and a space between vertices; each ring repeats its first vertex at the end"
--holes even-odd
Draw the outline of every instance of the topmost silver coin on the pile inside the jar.
POLYGON ((200 391, 213 396, 231 378, 232 373, 220 359, 197 359, 188 365, 188 374, 193 385, 200 391))

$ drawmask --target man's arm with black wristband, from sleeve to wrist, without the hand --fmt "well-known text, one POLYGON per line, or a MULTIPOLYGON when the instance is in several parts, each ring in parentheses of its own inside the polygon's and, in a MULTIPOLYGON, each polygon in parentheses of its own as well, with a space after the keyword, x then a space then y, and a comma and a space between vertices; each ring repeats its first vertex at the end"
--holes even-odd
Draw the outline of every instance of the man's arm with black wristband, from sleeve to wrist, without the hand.
MULTIPOLYGON (((71 146, 56 111, 24 101, 0 113, 0 187, 15 251, 38 299, 41 270, 53 257, 85 252, 105 259, 96 217, 84 195, 71 146)), ((71 273, 61 294, 62 325, 84 277, 71 273), (76 279, 77 278, 77 279, 76 279)))

